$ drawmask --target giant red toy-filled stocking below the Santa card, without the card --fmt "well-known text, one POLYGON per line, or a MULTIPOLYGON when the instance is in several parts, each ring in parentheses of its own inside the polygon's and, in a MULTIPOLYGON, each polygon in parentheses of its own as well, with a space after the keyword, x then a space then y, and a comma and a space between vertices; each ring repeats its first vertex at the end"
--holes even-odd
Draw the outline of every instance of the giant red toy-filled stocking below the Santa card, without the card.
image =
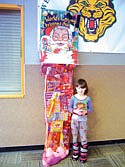
POLYGON ((51 166, 69 154, 71 114, 68 103, 73 94, 74 65, 43 64, 45 76, 46 138, 42 156, 43 166, 51 166))

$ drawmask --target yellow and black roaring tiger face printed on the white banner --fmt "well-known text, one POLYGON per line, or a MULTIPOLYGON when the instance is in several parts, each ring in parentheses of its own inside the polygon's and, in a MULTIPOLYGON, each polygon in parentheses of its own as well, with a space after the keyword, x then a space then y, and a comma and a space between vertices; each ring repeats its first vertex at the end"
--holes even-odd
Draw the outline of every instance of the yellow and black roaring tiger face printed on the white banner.
POLYGON ((116 21, 112 0, 76 0, 67 10, 80 14, 79 34, 85 41, 96 42, 116 21))

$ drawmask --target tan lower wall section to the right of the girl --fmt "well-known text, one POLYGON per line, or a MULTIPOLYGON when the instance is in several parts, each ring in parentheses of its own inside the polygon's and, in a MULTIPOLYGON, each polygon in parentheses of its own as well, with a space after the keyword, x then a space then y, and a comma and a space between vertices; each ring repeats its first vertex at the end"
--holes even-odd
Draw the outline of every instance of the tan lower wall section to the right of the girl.
POLYGON ((125 139, 125 66, 78 66, 74 81, 80 77, 88 81, 93 101, 88 139, 125 139))

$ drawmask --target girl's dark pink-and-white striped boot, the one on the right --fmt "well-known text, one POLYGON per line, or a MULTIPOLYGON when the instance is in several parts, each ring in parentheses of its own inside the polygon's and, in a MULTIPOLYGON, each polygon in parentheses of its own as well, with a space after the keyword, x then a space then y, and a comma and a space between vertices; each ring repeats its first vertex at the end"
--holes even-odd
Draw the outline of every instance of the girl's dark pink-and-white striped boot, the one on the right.
POLYGON ((88 145, 84 144, 80 147, 80 162, 85 163, 88 156, 88 145))

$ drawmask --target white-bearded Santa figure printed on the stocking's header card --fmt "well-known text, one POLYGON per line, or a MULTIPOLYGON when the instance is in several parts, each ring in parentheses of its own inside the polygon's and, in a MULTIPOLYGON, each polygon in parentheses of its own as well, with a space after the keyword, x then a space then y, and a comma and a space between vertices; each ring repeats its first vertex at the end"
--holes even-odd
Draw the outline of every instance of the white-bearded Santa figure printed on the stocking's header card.
POLYGON ((51 26, 41 37, 41 60, 44 63, 73 64, 72 35, 69 28, 51 26))

